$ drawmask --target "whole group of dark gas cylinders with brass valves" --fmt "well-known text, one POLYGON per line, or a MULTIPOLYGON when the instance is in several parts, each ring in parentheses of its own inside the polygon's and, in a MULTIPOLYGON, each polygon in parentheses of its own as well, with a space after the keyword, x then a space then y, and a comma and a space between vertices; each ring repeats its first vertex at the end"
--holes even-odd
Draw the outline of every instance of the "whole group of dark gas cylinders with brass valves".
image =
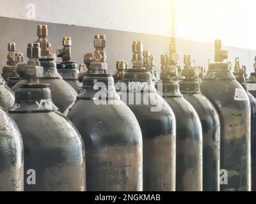
MULTIPOLYGON (((180 69, 172 44, 158 80, 141 41, 132 43, 132 68, 118 61, 109 75, 106 36, 95 36, 80 73, 70 38, 56 64, 47 25, 38 25, 37 36, 28 63, 8 44, 1 191, 255 190, 256 100, 239 59, 234 71, 223 61, 220 40, 206 74, 189 55, 180 69)), ((254 83, 252 73, 252 90, 254 83)))

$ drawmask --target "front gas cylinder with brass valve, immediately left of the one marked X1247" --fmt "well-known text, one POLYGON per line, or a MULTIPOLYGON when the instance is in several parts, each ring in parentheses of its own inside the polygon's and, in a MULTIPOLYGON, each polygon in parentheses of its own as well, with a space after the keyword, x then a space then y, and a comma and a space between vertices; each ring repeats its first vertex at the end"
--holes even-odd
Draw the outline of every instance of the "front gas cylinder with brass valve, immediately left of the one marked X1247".
POLYGON ((142 191, 141 129, 106 74, 106 36, 95 35, 94 47, 84 55, 89 71, 67 114, 84 139, 87 191, 142 191))

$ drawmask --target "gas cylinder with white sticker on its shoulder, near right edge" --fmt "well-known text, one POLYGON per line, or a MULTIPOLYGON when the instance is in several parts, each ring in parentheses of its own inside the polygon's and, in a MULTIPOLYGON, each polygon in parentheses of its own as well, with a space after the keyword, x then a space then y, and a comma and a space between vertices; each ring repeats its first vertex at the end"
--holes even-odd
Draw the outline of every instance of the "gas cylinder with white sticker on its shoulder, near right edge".
POLYGON ((250 101, 236 81, 228 63, 227 50, 215 41, 215 63, 200 84, 220 117, 220 191, 250 191, 250 101))

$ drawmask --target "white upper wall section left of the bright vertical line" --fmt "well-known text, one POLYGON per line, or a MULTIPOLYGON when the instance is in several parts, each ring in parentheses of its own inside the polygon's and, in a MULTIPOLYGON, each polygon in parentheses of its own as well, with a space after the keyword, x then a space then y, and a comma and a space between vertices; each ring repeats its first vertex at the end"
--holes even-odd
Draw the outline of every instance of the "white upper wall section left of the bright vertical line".
POLYGON ((0 0, 0 16, 171 36, 171 1, 0 0), (31 3, 35 4, 35 18, 31 3))

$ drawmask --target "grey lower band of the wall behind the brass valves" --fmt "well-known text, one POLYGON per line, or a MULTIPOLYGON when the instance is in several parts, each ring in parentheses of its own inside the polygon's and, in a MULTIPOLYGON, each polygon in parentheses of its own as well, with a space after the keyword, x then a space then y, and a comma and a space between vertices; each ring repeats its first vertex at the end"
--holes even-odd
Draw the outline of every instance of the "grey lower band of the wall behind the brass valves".
MULTIPOLYGON (((45 24, 30 20, 20 20, 16 18, 0 17, 0 68, 6 64, 7 43, 14 41, 17 52, 24 52, 26 56, 27 44, 37 39, 36 26, 45 24)), ((132 59, 132 41, 142 40, 144 49, 149 49, 154 54, 156 69, 160 71, 160 55, 169 50, 170 38, 163 36, 154 36, 150 34, 131 33, 126 31, 114 31, 110 29, 97 29, 93 27, 82 27, 77 25, 52 24, 48 25, 48 40, 52 45, 52 52, 56 48, 61 48, 61 41, 64 36, 72 38, 72 61, 77 64, 83 63, 83 55, 86 52, 92 52, 93 36, 95 34, 106 34, 107 38, 107 62, 108 73, 115 71, 116 61, 125 60, 131 67, 132 59)), ((225 44, 225 42, 223 42, 225 44)), ((234 65, 235 57, 240 57, 241 64, 246 65, 248 71, 253 71, 255 50, 246 50, 243 48, 223 47, 228 49, 228 61, 234 65)), ((211 43, 202 43, 189 40, 177 40, 177 52, 180 56, 179 65, 183 66, 184 54, 191 54, 196 64, 207 66, 208 59, 213 57, 214 47, 211 43)), ((59 59, 60 60, 60 59, 59 59)), ((25 57, 26 61, 26 57, 25 57)))

